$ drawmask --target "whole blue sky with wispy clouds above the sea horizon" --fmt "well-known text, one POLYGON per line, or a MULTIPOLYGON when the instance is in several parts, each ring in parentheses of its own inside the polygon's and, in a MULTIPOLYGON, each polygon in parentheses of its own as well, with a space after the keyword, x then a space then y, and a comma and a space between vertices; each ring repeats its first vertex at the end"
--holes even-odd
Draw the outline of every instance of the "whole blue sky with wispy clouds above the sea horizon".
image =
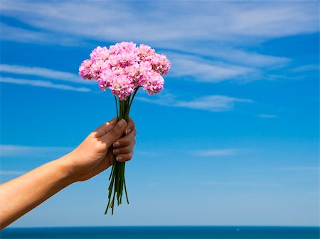
POLYGON ((78 67, 134 41, 171 60, 137 95, 129 205, 105 216, 110 170, 12 224, 319 225, 319 1, 1 1, 1 182, 115 115, 78 67))

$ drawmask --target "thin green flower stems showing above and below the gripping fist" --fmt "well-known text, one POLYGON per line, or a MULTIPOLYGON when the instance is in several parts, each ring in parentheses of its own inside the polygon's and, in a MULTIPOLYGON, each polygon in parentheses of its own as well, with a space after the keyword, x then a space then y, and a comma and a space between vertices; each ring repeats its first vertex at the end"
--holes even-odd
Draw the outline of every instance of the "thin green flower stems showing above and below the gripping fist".
MULTIPOLYGON (((132 105, 132 101, 134 100, 134 96, 137 94, 139 87, 134 89, 132 95, 127 97, 127 99, 120 101, 117 96, 114 96, 114 101, 116 104, 117 109, 117 121, 120 121, 122 118, 125 121, 128 121, 129 118, 129 111, 132 105), (119 104, 119 106, 118 106, 119 104)), ((108 204, 107 209, 105 209, 105 214, 107 214, 108 209, 112 209, 112 215, 114 211, 114 202, 117 196, 117 204, 118 206, 122 204, 122 194, 123 189, 126 193, 127 203, 129 204, 128 194, 127 194, 127 187, 126 187, 126 180, 124 177, 124 169, 125 169, 125 162, 119 162, 116 160, 114 155, 114 162, 112 165, 109 181, 109 194, 108 194, 108 204)))

